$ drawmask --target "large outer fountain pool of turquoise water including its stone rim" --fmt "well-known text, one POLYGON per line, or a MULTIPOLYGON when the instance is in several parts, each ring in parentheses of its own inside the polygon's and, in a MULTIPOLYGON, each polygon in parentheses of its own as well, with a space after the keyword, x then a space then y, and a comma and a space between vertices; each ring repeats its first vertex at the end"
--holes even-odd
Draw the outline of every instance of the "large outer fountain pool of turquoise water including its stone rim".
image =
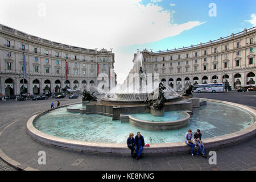
POLYGON ((129 154, 126 139, 129 133, 137 131, 141 131, 145 143, 150 143, 150 147, 143 150, 147 154, 189 151, 184 143, 188 129, 201 130, 206 148, 226 146, 255 136, 254 109, 232 102, 206 101, 207 105, 193 109, 188 125, 177 130, 138 129, 104 115, 68 113, 67 108, 62 107, 33 115, 27 122, 27 131, 32 138, 45 144, 80 152, 115 154, 129 154))

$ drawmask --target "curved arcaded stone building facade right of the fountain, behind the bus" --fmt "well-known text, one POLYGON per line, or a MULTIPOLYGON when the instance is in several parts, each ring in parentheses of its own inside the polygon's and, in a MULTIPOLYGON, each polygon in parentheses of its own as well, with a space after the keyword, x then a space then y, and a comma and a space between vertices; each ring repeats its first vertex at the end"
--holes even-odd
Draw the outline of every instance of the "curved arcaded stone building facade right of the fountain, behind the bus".
POLYGON ((255 87, 256 27, 225 38, 167 51, 143 53, 145 73, 159 73, 159 81, 176 91, 193 84, 221 83, 231 88, 255 87))

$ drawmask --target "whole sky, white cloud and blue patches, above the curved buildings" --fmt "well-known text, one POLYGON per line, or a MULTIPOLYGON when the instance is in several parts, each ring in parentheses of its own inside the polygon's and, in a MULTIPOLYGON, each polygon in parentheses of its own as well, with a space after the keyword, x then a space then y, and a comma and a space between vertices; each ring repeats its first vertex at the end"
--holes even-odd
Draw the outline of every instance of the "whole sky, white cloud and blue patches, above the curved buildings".
POLYGON ((110 50, 121 83, 137 49, 196 45, 256 26, 255 0, 0 0, 0 23, 54 42, 110 50))

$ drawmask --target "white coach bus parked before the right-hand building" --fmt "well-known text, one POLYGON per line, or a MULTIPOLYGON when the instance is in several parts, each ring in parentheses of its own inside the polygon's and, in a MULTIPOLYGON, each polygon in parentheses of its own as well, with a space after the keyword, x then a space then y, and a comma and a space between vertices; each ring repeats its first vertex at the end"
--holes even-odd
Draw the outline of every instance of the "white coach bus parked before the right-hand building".
POLYGON ((224 84, 200 84, 195 85, 193 92, 223 92, 224 84))

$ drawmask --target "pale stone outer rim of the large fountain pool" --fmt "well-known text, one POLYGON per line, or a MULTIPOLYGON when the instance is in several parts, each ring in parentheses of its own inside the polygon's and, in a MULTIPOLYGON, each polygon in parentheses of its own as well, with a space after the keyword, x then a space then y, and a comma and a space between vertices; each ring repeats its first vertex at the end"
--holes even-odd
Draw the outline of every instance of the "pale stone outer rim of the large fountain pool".
MULTIPOLYGON (((212 100, 208 98, 201 98, 206 101, 213 101, 222 104, 228 104, 232 106, 240 107, 241 109, 247 110, 250 114, 254 116, 254 123, 247 127, 246 129, 236 131, 235 133, 221 135, 219 137, 213 137, 204 139, 205 147, 207 148, 217 148, 220 146, 233 144, 237 142, 241 142, 247 138, 253 137, 256 134, 256 110, 252 109, 249 106, 236 104, 233 102, 227 101, 219 101, 212 100)), ((79 104, 79 103, 76 103, 79 104)), ((70 104, 69 104, 70 105, 70 104)), ((73 105, 73 104, 71 104, 73 105)), ((62 107, 67 107, 68 105, 64 105, 62 107)), ((60 108, 60 107, 59 107, 60 108)), ((100 143, 100 142, 85 142, 79 140, 72 139, 64 139, 60 137, 54 137, 52 135, 48 135, 35 129, 33 122, 36 118, 40 117, 40 115, 46 114, 51 110, 42 111, 39 114, 33 115, 27 121, 27 133, 35 140, 42 142, 44 144, 48 144, 51 146, 63 148, 64 150, 71 151, 86 151, 86 152, 97 152, 97 153, 107 153, 107 154, 129 154, 130 150, 127 148, 126 144, 118 144, 118 143, 100 143)), ((170 154, 176 152, 184 152, 189 151, 190 147, 187 146, 184 142, 172 142, 172 143, 153 143, 150 144, 150 147, 144 147, 143 153, 146 154, 170 154)))

